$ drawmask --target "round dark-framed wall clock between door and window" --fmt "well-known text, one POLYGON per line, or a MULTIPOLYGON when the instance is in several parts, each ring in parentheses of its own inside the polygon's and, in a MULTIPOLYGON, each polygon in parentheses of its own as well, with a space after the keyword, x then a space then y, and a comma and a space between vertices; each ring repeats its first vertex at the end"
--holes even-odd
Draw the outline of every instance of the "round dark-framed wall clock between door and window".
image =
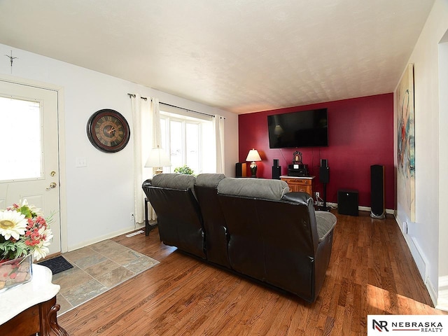
POLYGON ((92 145, 106 153, 121 151, 130 139, 125 117, 111 109, 99 110, 87 122, 87 137, 92 145))

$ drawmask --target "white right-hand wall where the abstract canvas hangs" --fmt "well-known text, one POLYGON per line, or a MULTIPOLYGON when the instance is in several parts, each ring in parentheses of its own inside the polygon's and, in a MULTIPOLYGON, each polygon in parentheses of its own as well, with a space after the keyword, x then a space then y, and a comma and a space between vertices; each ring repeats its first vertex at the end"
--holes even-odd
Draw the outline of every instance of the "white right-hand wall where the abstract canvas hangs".
POLYGON ((439 107, 440 99, 447 99, 447 96, 439 95, 438 66, 439 43, 447 29, 448 1, 436 0, 408 61, 414 63, 416 221, 409 223, 400 206, 405 203, 400 199, 397 216, 398 223, 409 223, 405 238, 414 258, 419 258, 416 255, 419 250, 428 262, 427 279, 423 280, 427 281, 435 301, 439 296, 440 277, 448 276, 447 267, 440 267, 442 262, 447 264, 448 255, 447 244, 443 243, 447 237, 444 207, 447 206, 448 186, 447 180, 441 178, 448 172, 445 159, 448 136, 445 130, 447 113, 445 111, 443 116, 439 107), (444 185, 440 185, 440 181, 444 181, 444 185))

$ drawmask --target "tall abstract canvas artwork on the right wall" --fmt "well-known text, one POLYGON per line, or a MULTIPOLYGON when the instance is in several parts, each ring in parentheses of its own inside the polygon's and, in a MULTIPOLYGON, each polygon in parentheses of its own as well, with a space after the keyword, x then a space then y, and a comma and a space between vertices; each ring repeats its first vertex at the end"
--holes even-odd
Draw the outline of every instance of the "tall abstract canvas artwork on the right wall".
POLYGON ((409 64, 395 90, 397 111, 398 202, 415 221, 414 64, 409 64))

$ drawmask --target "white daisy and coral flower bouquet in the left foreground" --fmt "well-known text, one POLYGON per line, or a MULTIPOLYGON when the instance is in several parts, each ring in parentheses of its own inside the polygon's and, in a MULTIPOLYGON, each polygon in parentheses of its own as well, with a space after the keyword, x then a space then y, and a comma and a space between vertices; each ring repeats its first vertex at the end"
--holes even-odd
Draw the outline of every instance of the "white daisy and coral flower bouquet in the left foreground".
POLYGON ((0 265, 2 262, 32 254, 34 260, 45 258, 53 235, 41 209, 27 200, 0 210, 0 265))

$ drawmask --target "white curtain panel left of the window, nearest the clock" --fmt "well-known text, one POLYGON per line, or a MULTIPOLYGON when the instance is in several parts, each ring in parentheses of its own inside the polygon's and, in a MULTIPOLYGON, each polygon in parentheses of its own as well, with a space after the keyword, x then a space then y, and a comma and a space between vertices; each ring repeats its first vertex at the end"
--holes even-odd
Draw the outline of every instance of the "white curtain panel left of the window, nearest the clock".
POLYGON ((134 216, 137 223, 144 223, 145 194, 141 184, 150 179, 148 169, 144 168, 147 155, 151 149, 151 114, 149 99, 142 99, 139 94, 131 96, 132 132, 134 139, 134 216))

